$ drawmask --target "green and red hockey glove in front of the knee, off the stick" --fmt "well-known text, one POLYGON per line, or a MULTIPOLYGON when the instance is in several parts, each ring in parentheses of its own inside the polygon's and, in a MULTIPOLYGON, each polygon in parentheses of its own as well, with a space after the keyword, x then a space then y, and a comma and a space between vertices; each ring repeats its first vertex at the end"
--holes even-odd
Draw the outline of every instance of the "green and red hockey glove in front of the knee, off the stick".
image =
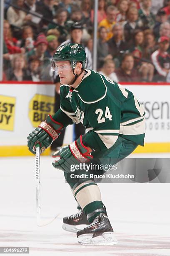
POLYGON ((80 136, 77 141, 54 152, 52 157, 55 158, 52 165, 67 173, 71 172, 70 166, 72 164, 87 163, 93 158, 89 153, 89 149, 82 143, 82 136, 80 136))

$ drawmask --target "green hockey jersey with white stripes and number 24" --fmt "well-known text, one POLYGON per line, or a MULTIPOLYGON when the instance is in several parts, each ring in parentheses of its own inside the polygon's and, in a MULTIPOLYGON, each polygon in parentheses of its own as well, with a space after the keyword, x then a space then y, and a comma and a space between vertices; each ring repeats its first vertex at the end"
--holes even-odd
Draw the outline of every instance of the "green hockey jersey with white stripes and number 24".
POLYGON ((111 148, 118 136, 144 145, 145 110, 132 92, 93 70, 74 89, 60 86, 60 110, 53 118, 64 126, 82 123, 83 143, 95 151, 111 148))

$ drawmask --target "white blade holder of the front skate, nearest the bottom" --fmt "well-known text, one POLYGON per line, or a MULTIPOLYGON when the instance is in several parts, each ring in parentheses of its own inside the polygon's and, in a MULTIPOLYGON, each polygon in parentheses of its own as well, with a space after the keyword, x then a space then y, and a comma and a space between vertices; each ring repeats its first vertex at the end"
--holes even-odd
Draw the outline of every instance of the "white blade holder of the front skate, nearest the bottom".
POLYGON ((114 245, 118 241, 112 232, 104 232, 101 236, 92 238, 92 234, 80 235, 78 237, 78 243, 82 245, 114 245))

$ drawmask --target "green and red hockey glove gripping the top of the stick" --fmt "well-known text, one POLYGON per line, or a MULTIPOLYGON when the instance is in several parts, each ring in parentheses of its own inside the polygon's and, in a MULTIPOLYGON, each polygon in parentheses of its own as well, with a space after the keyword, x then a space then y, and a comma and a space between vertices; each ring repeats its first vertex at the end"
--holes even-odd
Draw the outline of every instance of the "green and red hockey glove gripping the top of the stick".
POLYGON ((55 141, 60 135, 60 130, 63 125, 55 121, 51 115, 40 123, 32 133, 27 137, 28 149, 32 154, 35 154, 35 144, 40 144, 40 153, 44 152, 49 147, 52 141, 55 141))

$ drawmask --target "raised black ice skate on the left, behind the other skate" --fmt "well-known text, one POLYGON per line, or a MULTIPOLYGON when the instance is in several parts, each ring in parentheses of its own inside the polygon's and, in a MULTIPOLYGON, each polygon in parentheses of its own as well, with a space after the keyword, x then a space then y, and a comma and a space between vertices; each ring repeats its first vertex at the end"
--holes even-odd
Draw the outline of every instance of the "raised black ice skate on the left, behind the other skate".
POLYGON ((64 217, 62 228, 64 230, 77 233, 77 231, 84 228, 85 225, 89 225, 89 222, 83 210, 80 210, 76 214, 64 217))

